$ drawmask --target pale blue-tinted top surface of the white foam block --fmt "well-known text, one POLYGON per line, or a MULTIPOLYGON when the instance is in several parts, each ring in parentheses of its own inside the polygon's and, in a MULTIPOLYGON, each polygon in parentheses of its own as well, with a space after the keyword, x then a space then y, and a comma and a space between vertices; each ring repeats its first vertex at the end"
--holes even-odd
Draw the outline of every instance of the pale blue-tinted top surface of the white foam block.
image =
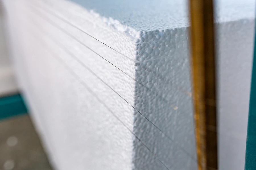
MULTIPOLYGON (((101 16, 118 20, 138 31, 171 29, 189 25, 187 0, 71 0, 101 16)), ((255 17, 253 0, 217 0, 216 22, 255 17)))

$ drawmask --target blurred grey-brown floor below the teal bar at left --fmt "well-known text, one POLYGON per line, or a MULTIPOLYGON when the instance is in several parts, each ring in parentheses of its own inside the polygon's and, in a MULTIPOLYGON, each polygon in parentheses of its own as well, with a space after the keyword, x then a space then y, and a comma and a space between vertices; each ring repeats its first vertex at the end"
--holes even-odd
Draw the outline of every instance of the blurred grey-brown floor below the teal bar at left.
POLYGON ((0 170, 52 170, 28 115, 0 120, 0 170))

